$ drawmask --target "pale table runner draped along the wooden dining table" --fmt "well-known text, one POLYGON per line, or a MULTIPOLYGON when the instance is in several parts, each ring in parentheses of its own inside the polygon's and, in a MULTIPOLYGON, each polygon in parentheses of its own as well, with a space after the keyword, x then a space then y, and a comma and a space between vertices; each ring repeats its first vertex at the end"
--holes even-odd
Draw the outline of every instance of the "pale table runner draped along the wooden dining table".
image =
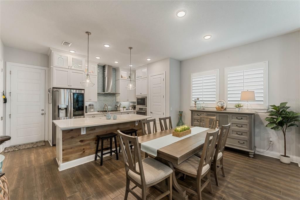
MULTIPOLYGON (((156 157, 158 149, 166 147, 170 144, 173 144, 173 143, 178 142, 178 141, 180 141, 184 138, 188 138, 192 135, 203 132, 205 130, 208 130, 208 129, 203 128, 203 127, 193 127, 193 128, 191 128, 191 133, 189 135, 183 136, 181 138, 175 137, 171 133, 170 135, 166 135, 166 136, 163 136, 161 138, 156 138, 154 140, 143 142, 141 144, 141 150, 143 152, 146 152, 146 153, 151 154, 152 156, 156 157)), ((205 139, 203 138, 203 143, 204 143, 204 141, 205 141, 205 139)))

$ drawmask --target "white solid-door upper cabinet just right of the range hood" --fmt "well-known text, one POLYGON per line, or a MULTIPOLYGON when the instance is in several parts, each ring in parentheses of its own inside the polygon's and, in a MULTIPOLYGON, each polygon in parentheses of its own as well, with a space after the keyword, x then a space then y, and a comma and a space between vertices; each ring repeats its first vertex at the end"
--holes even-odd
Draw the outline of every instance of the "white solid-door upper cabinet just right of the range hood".
MULTIPOLYGON (((129 84, 130 80, 117 80, 117 102, 135 102, 135 89, 127 90, 126 86, 129 84)), ((132 81, 135 86, 135 81, 132 81)))

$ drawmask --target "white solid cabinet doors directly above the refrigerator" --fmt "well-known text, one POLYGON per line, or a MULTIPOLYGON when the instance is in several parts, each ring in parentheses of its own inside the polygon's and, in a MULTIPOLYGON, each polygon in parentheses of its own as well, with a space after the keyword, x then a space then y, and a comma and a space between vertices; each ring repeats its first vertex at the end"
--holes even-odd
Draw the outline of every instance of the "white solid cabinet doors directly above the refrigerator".
POLYGON ((84 89, 80 84, 84 76, 84 71, 53 67, 53 87, 84 89))

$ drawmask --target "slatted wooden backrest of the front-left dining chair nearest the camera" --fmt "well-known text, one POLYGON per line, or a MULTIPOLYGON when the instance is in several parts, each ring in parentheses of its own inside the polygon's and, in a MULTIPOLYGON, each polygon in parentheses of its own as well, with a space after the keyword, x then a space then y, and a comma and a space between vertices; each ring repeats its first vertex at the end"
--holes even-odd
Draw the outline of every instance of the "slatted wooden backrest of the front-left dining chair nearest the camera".
POLYGON ((141 151, 140 151, 140 146, 139 146, 139 141, 137 136, 126 135, 120 132, 120 130, 118 130, 118 136, 119 136, 120 144, 124 144, 124 146, 121 145, 121 149, 122 149, 126 174, 128 173, 129 170, 131 170, 140 176, 142 184, 143 183, 146 184, 144 169, 142 164, 141 151), (133 152, 131 152, 129 142, 131 142, 131 144, 134 145, 133 152), (137 167, 140 169, 139 171, 137 171, 137 167))

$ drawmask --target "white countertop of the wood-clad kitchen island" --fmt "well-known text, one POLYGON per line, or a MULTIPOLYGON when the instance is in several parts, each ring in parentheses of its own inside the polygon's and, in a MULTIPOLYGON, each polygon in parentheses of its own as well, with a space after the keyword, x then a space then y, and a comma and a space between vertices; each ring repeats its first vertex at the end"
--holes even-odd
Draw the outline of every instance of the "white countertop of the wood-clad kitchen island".
POLYGON ((116 120, 112 119, 107 120, 106 117, 95 117, 95 118, 78 118, 78 119, 69 119, 69 120, 53 120, 53 123, 56 124, 61 130, 75 129, 82 127, 91 127, 91 126, 101 126, 107 124, 117 124, 124 122, 132 122, 139 120, 146 120, 151 118, 150 116, 137 115, 137 114, 127 114, 127 115, 118 115, 116 120))

